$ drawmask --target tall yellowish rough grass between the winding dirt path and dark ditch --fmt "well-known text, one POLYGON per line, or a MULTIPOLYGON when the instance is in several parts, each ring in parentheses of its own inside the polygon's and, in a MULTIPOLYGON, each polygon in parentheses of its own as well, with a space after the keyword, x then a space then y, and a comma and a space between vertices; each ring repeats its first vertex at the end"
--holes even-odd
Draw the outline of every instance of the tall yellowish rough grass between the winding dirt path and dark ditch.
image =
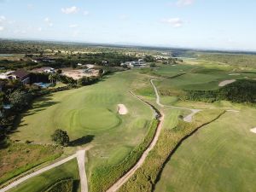
POLYGON ((207 125, 218 119, 223 110, 208 110, 197 113, 192 124, 179 121, 178 125, 171 130, 163 130, 154 149, 148 154, 147 159, 137 172, 125 183, 120 192, 152 191, 159 174, 163 169, 168 157, 174 153, 177 146, 203 125, 207 125))

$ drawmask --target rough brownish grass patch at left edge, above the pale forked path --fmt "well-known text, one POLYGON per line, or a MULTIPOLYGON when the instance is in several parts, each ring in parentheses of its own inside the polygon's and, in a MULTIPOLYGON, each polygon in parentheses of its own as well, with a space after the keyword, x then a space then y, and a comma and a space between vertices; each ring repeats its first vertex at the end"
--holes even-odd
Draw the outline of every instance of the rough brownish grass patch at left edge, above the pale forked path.
POLYGON ((44 162, 55 160, 62 148, 52 145, 9 143, 0 149, 0 184, 44 162))

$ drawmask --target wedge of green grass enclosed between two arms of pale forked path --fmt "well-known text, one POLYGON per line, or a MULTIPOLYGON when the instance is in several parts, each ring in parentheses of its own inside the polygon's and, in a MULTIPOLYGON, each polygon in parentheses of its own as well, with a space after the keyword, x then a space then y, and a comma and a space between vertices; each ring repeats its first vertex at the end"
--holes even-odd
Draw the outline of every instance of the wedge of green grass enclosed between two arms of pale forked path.
POLYGON ((52 170, 42 173, 36 177, 32 177, 26 181, 26 183, 21 183, 16 188, 11 189, 10 192, 38 192, 45 191, 50 186, 60 181, 61 179, 71 177, 74 180, 74 191, 79 190, 79 167, 76 159, 70 160, 67 163, 57 166, 52 170))

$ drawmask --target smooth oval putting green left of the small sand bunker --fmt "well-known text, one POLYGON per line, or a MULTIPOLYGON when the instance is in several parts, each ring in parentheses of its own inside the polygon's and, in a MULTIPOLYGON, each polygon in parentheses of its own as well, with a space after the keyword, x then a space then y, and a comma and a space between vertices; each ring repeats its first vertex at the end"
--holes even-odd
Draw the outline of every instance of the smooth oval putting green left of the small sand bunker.
POLYGON ((87 131, 109 130, 121 123, 118 115, 111 112, 108 108, 72 110, 66 113, 65 116, 64 119, 69 119, 70 121, 70 128, 81 127, 87 131))

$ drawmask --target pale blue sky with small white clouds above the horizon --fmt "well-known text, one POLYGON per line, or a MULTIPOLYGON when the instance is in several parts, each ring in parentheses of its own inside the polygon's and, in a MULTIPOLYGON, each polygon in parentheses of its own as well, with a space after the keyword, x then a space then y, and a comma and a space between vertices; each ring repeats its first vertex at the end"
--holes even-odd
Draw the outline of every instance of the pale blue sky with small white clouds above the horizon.
POLYGON ((255 0, 0 0, 0 38, 256 50, 255 0))

